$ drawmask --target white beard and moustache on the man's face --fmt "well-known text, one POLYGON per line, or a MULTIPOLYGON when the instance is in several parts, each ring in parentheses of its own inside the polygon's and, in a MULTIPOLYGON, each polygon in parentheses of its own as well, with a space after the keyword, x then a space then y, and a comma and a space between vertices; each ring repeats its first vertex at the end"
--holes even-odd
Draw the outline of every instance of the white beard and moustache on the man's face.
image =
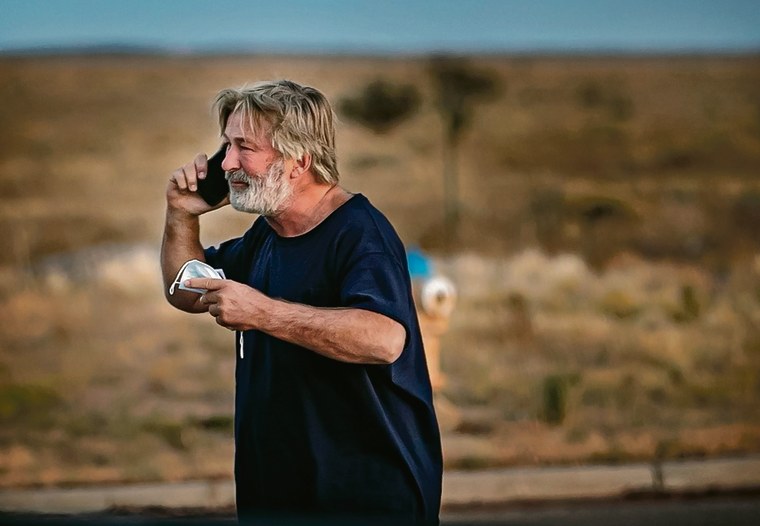
POLYGON ((283 177, 285 163, 282 159, 272 163, 267 171, 249 176, 243 170, 227 172, 227 181, 248 183, 243 191, 230 187, 230 204, 240 212, 273 216, 282 211, 293 195, 293 188, 283 177))

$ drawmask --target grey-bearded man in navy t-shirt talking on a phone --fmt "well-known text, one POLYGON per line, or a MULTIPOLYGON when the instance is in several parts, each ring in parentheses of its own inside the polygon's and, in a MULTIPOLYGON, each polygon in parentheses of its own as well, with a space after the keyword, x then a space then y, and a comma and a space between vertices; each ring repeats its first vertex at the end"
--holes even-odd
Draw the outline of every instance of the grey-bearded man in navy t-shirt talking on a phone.
POLYGON ((205 155, 167 190, 168 287, 190 259, 228 279, 167 294, 237 331, 238 516, 437 524, 441 443, 403 245, 361 194, 338 185, 333 112, 290 81, 215 102, 228 199, 259 214, 240 238, 201 247, 205 155))

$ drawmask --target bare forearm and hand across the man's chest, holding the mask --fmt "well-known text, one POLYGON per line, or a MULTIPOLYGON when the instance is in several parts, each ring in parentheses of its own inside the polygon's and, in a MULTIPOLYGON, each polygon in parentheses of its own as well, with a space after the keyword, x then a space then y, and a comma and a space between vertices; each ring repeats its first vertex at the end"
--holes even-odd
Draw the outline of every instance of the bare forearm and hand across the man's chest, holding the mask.
POLYGON ((275 300, 231 280, 196 278, 188 285, 208 289, 199 302, 228 329, 259 330, 349 363, 389 364, 404 350, 404 327, 376 312, 275 300))

